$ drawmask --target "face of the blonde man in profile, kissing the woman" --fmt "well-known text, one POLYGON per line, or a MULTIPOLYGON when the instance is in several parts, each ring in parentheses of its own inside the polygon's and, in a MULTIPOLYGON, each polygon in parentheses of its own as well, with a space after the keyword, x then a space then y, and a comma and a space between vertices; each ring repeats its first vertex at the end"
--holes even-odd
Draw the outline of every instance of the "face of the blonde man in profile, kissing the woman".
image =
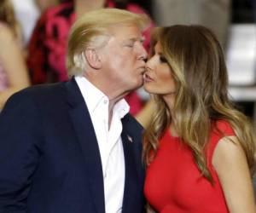
POLYGON ((119 94, 143 85, 145 59, 143 37, 135 25, 117 26, 112 30, 108 44, 101 50, 102 77, 107 79, 108 89, 119 94))

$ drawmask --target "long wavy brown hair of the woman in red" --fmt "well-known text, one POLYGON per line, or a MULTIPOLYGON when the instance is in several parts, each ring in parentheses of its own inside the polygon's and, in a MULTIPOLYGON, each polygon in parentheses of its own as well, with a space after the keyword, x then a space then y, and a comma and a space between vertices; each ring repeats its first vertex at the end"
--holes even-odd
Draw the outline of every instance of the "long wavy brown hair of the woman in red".
POLYGON ((160 43, 172 68, 177 96, 170 112, 162 97, 154 95, 158 110, 144 133, 143 158, 146 164, 154 158, 161 135, 172 123, 181 141, 192 150, 202 176, 212 182, 207 168, 207 143, 214 123, 224 119, 235 130, 253 175, 253 127, 229 100, 227 69, 217 38, 204 26, 170 26, 156 28, 152 40, 153 46, 160 43))

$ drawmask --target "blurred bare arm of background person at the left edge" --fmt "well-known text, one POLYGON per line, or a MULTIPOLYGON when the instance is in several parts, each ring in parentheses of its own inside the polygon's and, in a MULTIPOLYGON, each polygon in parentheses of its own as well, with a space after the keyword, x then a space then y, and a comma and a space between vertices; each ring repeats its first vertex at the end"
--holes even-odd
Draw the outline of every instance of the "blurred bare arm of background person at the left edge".
POLYGON ((10 95, 29 86, 26 64, 18 41, 8 26, 0 26, 0 60, 9 80, 9 88, 0 92, 0 109, 10 95))

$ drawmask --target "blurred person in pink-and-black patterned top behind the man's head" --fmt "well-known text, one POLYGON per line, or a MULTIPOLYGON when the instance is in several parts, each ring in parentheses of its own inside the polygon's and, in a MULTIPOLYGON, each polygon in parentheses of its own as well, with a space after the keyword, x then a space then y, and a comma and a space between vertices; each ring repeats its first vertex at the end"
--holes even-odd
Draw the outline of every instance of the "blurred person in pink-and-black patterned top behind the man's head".
MULTIPOLYGON (((56 7, 46 9, 38 20, 29 43, 27 65, 32 77, 32 84, 67 80, 65 53, 67 36, 71 25, 82 14, 104 7, 127 9, 136 14, 145 14, 144 10, 137 4, 124 0, 64 1, 56 7)), ((143 32, 145 37, 144 47, 146 49, 149 47, 152 26, 153 23, 143 32)), ((132 92, 125 99, 131 105, 132 114, 137 114, 142 109, 143 101, 137 95, 137 92, 132 92)))

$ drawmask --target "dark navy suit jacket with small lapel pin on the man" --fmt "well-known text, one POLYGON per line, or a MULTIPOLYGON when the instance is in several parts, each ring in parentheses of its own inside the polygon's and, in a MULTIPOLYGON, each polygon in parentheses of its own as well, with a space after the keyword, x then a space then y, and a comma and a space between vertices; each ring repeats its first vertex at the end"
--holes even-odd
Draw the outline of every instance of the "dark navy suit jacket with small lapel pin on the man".
MULTIPOLYGON (((143 129, 130 114, 122 123, 122 212, 137 213, 144 204, 143 129)), ((105 211, 99 147, 74 79, 13 95, 0 114, 0 140, 0 212, 105 211)))

